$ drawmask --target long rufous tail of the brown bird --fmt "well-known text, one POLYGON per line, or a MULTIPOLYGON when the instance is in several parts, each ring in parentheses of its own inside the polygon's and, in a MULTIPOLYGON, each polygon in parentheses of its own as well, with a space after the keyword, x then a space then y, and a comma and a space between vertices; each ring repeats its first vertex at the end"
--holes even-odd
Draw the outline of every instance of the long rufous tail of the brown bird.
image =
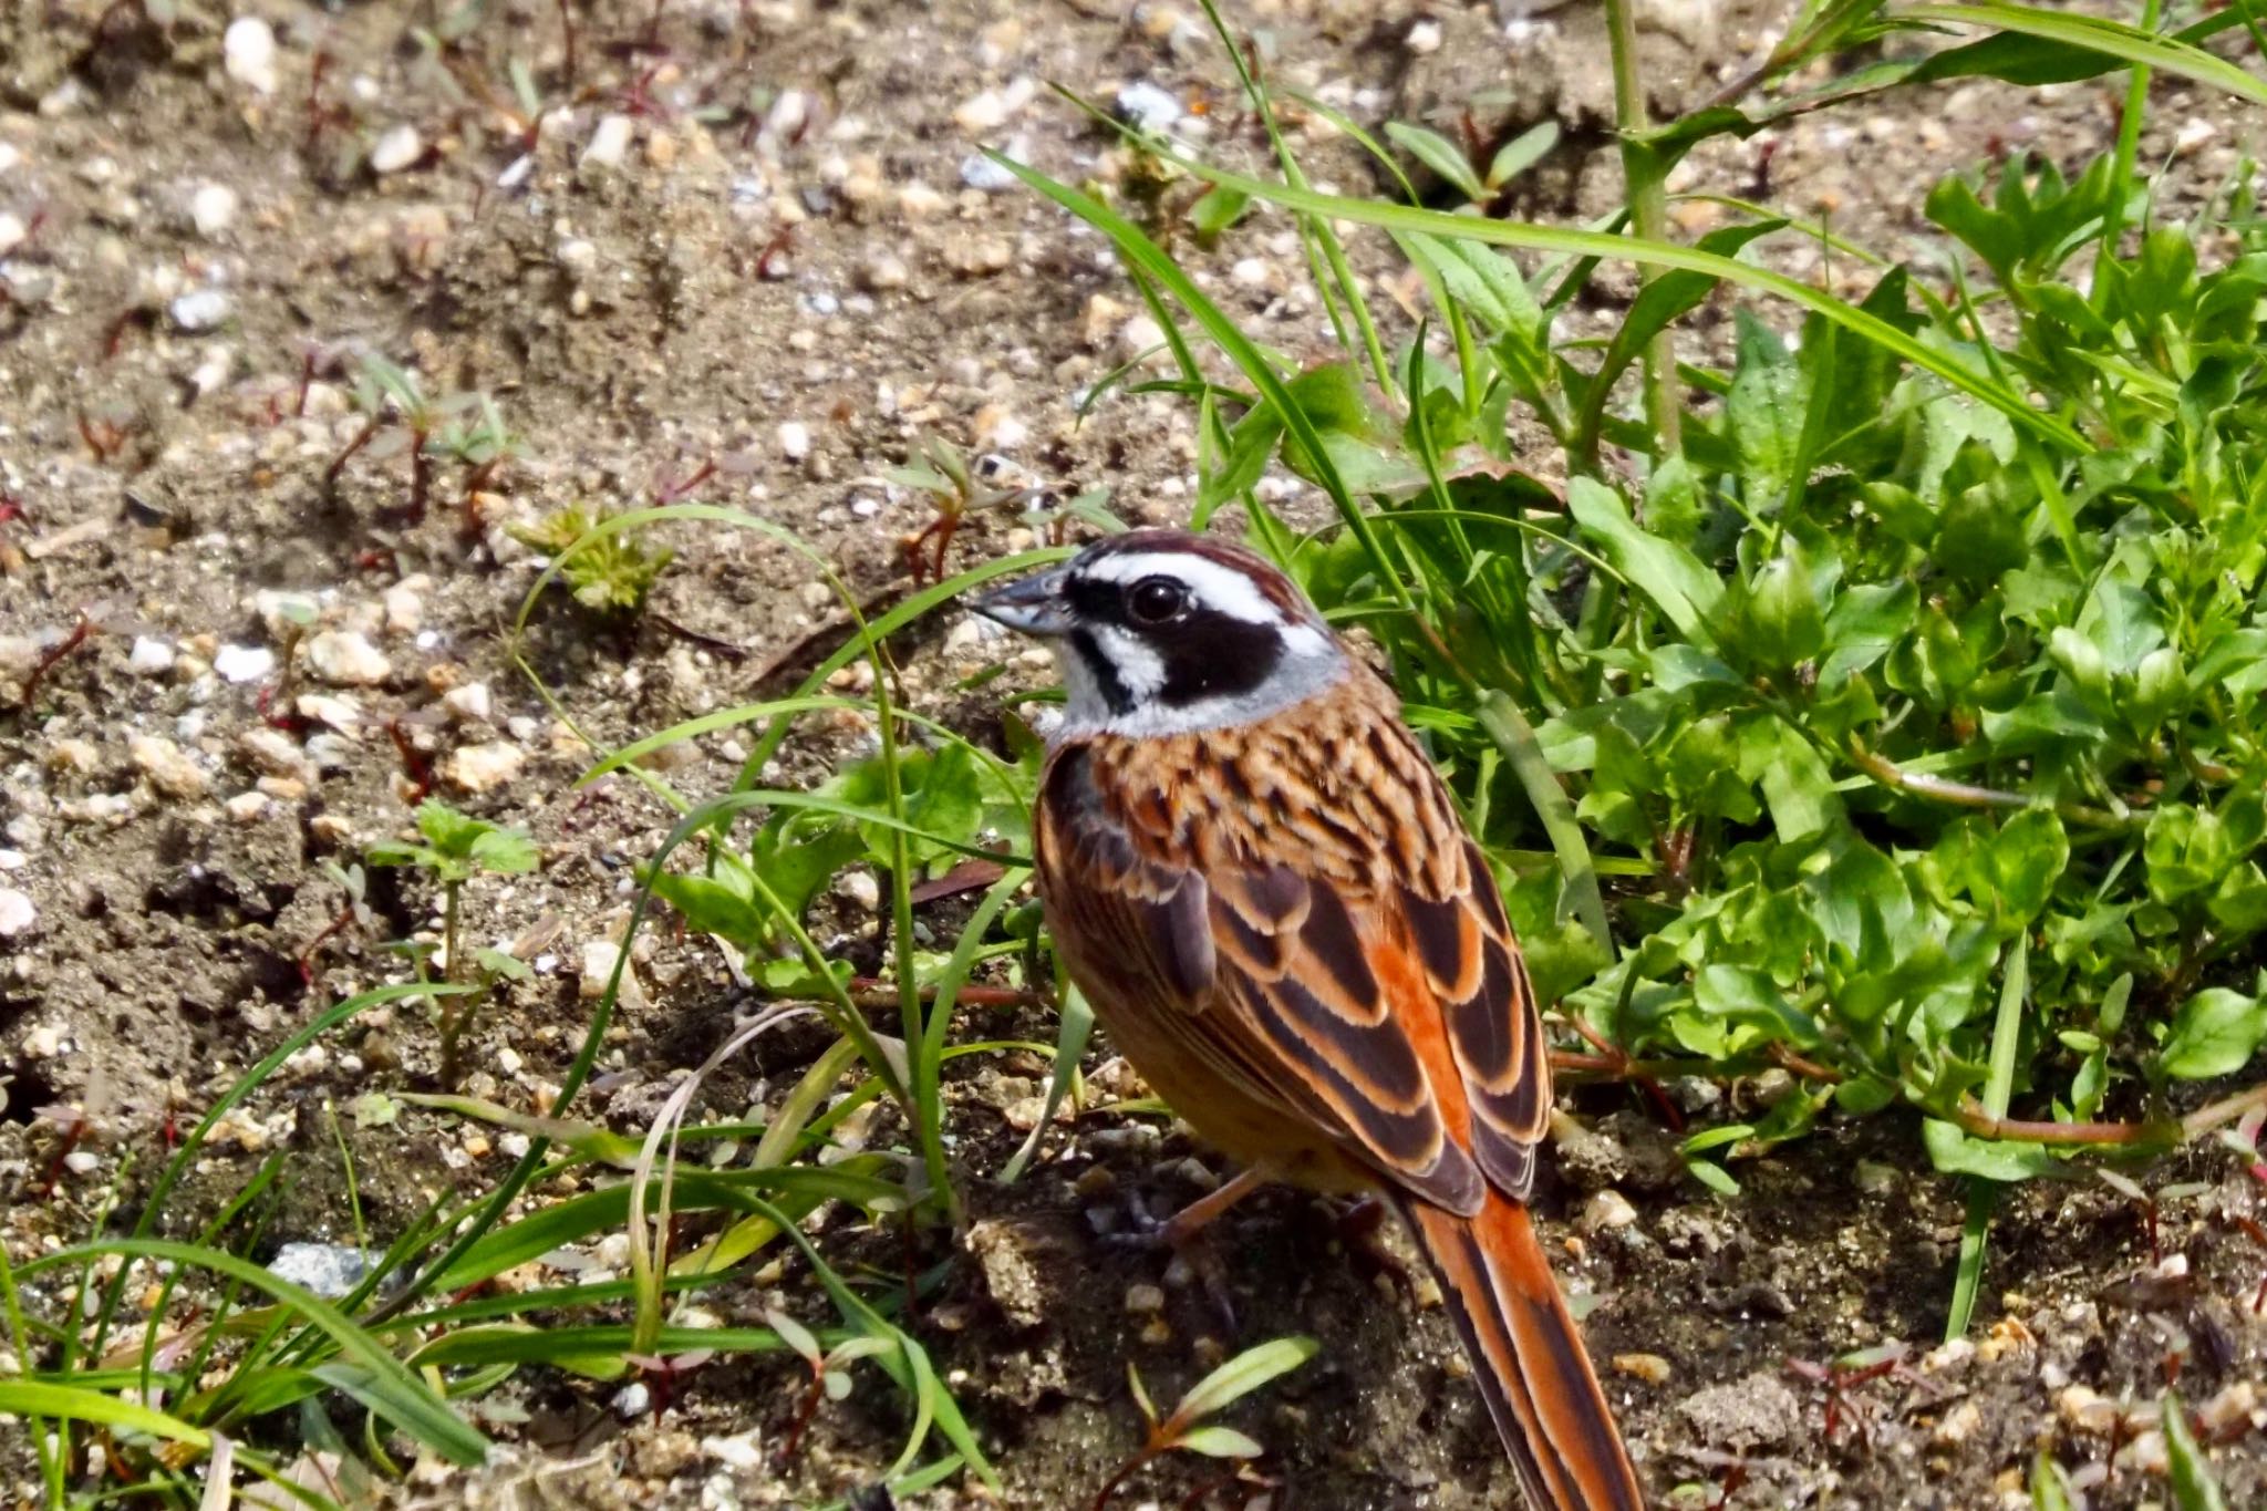
POLYGON ((1614 1411, 1528 1210, 1487 1194, 1478 1217, 1401 1203, 1440 1275, 1474 1380, 1535 1511, 1644 1511, 1614 1411))

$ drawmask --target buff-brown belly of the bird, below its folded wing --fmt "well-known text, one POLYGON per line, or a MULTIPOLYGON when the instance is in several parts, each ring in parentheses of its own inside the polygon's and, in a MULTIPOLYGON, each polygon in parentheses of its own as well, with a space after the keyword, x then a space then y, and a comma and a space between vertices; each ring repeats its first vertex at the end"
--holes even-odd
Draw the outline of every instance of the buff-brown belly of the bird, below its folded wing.
POLYGON ((1376 1176, 1338 1139, 1297 1112, 1254 1096, 1170 1022, 1158 1022, 1156 1010, 1113 1001, 1109 992, 1088 990, 1086 999, 1118 1053, 1220 1153, 1310 1192, 1367 1192, 1376 1185, 1376 1176))

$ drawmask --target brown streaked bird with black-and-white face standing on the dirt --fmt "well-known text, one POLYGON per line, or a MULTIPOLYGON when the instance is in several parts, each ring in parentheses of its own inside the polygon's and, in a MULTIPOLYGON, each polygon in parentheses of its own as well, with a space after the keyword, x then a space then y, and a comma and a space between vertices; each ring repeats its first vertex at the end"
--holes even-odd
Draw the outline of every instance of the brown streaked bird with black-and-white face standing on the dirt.
POLYGON ((1551 1062, 1478 843, 1387 682, 1265 557, 1129 530, 970 607, 1063 680, 1034 874, 1118 1051, 1242 1173, 1383 1196, 1535 1511, 1644 1491, 1528 1214, 1551 1062))

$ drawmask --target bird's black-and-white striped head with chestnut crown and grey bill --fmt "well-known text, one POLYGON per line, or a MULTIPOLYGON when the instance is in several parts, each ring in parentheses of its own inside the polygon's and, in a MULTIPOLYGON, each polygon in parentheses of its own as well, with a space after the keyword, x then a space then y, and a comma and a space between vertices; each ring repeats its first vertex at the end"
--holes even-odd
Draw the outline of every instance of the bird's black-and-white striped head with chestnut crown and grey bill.
POLYGON ((1113 535, 970 607, 1054 650, 1063 734, 1245 725, 1326 691, 1351 664, 1290 578, 1183 530, 1113 535))

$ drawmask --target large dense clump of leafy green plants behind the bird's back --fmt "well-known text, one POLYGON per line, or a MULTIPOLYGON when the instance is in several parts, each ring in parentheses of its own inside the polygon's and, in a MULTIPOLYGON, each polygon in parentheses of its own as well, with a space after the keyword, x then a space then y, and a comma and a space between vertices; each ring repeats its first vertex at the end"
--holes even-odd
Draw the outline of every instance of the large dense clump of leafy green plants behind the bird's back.
MULTIPOLYGON (((1929 14, 1952 11, 2006 45, 1929 77, 2104 57, 2224 75, 2188 41, 1929 14)), ((1816 7, 1798 32, 1839 45, 1877 25, 1816 7)), ((1632 193, 1750 125, 1632 125, 1650 154, 1632 193)), ((1007 168, 1109 236, 1158 313, 1199 406, 1197 523, 1240 505, 1392 657, 1503 865, 1539 988, 1605 1047, 1573 1069, 1784 1081, 1687 1144, 1725 1187, 1723 1158, 1823 1115, 1918 1108, 1936 1167, 1975 1180, 1963 1294, 1993 1183, 2163 1149, 2258 1101, 2170 1115, 2174 1083, 2231 1074, 2267 1038, 2267 240, 2247 174, 2188 227, 2151 220, 2126 143, 2068 181, 2022 159, 1988 190, 1952 179, 1929 197, 1950 285, 1884 267, 1843 301, 1743 258, 1798 233, 1771 215, 1698 247, 1510 224, 1319 195, 1272 140, 1281 183, 1143 150, 1276 204, 1324 249, 1338 224, 1385 229, 1446 340, 1419 328, 1385 353, 1324 251, 1324 299, 1360 340, 1292 372, 1127 217, 1007 168), (2199 254, 2228 240, 2217 265, 2199 254), (1555 326, 1603 258, 1655 276, 1582 358, 1555 326), (1718 283, 1805 319, 1789 340, 1739 306, 1732 360, 1682 369, 1698 399, 1646 383, 1678 412, 1637 419, 1623 376, 1718 283), (1557 442, 1564 489, 1523 473, 1514 410, 1557 442), (1270 462, 1342 528, 1279 521, 1254 492, 1270 462), (2136 1117, 2104 1121, 2113 1101, 2136 1117)))

